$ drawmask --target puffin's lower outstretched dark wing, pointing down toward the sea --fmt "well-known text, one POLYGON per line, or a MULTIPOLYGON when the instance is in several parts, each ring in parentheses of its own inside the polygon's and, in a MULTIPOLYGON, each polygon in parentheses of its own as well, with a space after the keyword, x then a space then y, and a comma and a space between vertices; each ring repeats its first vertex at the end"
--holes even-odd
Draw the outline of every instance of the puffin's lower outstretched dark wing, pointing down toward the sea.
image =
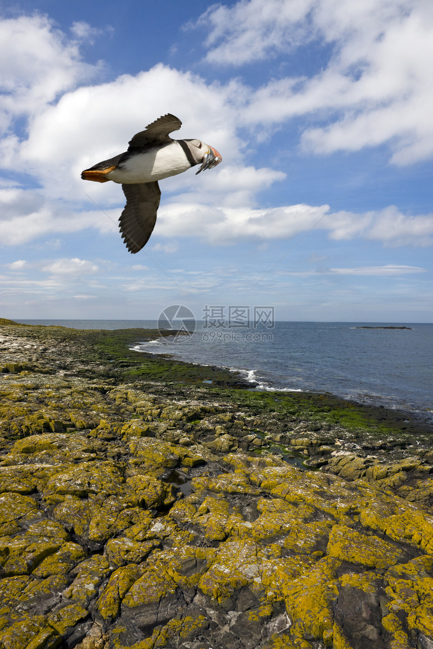
POLYGON ((122 189, 127 204, 119 218, 120 233, 129 252, 138 252, 155 227, 161 191, 157 182, 125 184, 122 189))

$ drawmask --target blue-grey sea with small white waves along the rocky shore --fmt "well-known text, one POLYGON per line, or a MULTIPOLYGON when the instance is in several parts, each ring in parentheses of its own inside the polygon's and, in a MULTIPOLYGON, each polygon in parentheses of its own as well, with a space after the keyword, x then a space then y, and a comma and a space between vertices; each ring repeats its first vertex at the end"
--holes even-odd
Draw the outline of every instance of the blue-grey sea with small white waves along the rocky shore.
MULTIPOLYGON (((77 329, 158 328, 156 320, 19 320, 77 329)), ((159 323, 161 326, 161 323, 159 323)), ((167 324, 167 323, 166 323, 167 324)), ((433 421, 433 324, 201 321, 189 335, 137 337, 132 349, 240 371, 251 389, 328 392, 433 421), (371 328, 362 328, 362 327, 371 328), (406 326, 384 329, 382 326, 406 326)), ((194 328, 192 321, 165 328, 194 328)))

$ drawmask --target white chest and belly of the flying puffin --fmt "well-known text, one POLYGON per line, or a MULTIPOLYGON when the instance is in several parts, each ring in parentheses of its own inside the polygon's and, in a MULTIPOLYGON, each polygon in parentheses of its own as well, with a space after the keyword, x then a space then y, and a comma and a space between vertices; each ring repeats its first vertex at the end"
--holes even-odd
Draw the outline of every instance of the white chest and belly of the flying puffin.
POLYGON ((131 156, 120 167, 109 171, 106 177, 123 184, 154 182, 182 173, 190 166, 180 144, 171 142, 131 156))

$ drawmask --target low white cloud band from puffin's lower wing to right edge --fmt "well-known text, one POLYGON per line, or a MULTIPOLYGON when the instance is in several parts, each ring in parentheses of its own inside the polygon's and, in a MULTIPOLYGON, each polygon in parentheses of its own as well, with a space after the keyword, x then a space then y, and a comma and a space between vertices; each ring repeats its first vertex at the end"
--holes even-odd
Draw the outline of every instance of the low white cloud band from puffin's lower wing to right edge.
POLYGON ((160 208, 155 233, 229 245, 245 239, 290 239, 317 227, 337 240, 361 237, 393 246, 433 245, 433 214, 408 216, 390 206, 365 214, 341 211, 322 219, 328 210, 328 205, 254 209, 173 202, 160 208))

